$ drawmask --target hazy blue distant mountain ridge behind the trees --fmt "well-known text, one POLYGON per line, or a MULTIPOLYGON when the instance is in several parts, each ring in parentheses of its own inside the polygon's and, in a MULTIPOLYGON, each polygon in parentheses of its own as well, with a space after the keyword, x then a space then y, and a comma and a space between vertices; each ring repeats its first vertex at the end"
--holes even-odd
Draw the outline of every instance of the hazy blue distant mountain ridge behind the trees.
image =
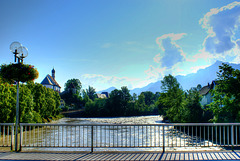
MULTIPOLYGON (((191 87, 196 87, 198 84, 201 84, 202 86, 207 85, 208 83, 211 83, 213 80, 217 78, 217 72, 219 71, 219 66, 222 65, 221 61, 216 61, 213 65, 205 68, 200 69, 197 71, 197 73, 191 73, 186 76, 178 75, 176 76, 178 82, 182 86, 183 90, 188 90, 191 87)), ((240 64, 231 64, 235 69, 240 69, 240 64)), ((144 91, 151 91, 153 93, 160 92, 161 89, 161 81, 157 81, 155 83, 150 83, 145 87, 142 88, 135 88, 130 91, 131 94, 136 93, 137 95, 141 94, 141 92, 144 91)))

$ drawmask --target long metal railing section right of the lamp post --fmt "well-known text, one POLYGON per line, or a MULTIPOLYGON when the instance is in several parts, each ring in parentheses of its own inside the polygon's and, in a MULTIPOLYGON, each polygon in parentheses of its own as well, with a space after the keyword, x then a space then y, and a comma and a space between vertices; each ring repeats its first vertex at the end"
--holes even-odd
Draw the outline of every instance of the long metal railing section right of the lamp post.
POLYGON ((240 146, 239 123, 20 124, 20 147, 147 148, 240 146))

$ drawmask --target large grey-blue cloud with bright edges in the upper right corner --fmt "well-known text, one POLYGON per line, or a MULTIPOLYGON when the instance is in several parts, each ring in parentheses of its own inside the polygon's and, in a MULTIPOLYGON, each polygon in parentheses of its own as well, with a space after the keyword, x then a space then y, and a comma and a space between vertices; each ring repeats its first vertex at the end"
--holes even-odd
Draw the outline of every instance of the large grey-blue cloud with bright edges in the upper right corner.
POLYGON ((224 54, 236 46, 235 36, 240 25, 240 2, 211 9, 199 23, 208 33, 203 42, 204 49, 211 54, 224 54))

